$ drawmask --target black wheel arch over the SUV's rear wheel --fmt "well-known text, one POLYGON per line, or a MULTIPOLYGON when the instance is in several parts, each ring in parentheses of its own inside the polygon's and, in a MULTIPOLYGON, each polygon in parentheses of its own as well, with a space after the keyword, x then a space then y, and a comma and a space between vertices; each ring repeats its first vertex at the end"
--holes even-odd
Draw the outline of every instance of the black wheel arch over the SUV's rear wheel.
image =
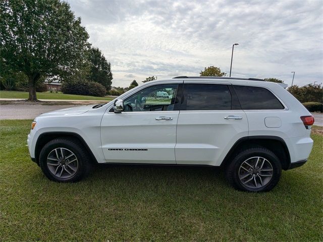
POLYGON ((280 160, 284 170, 289 169, 291 158, 285 141, 277 136, 249 136, 240 138, 230 149, 221 166, 227 166, 241 150, 263 147, 272 151, 280 160))

